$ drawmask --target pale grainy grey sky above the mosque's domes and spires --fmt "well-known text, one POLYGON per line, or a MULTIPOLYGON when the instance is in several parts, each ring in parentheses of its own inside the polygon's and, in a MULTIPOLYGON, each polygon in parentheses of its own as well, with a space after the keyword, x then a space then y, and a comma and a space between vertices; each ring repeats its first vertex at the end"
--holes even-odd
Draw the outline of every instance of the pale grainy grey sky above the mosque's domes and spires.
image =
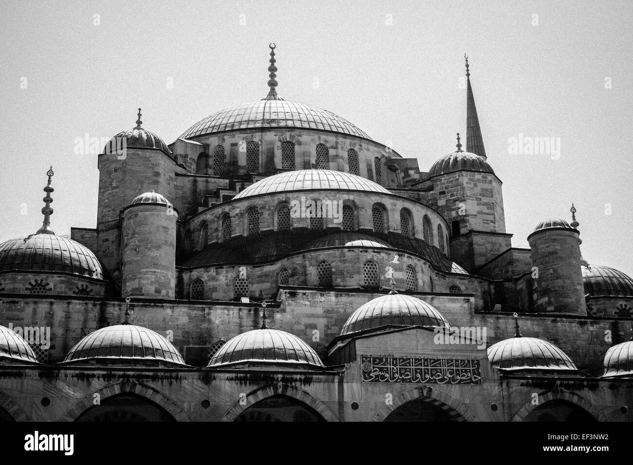
POLYGON ((0 240, 39 228, 51 164, 54 231, 94 228, 97 156, 75 154, 75 138, 132 128, 142 107, 170 144, 265 97, 275 42, 280 96, 422 171, 465 135, 467 53, 513 246, 541 220, 570 221, 575 202, 583 256, 633 276, 631 1, 0 4, 0 240), (560 140, 560 156, 510 153, 521 134, 560 140))

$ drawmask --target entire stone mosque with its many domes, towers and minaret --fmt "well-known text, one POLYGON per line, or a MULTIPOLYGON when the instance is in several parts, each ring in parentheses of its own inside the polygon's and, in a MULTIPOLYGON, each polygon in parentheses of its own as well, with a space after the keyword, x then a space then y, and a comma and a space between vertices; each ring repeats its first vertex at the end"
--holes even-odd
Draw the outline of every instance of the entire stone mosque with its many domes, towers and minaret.
POLYGON ((275 63, 172 144, 139 109, 95 228, 54 233, 47 172, 0 244, 0 421, 633 419, 633 280, 582 259, 573 206, 512 246, 468 59, 466 150, 428 171, 275 63))

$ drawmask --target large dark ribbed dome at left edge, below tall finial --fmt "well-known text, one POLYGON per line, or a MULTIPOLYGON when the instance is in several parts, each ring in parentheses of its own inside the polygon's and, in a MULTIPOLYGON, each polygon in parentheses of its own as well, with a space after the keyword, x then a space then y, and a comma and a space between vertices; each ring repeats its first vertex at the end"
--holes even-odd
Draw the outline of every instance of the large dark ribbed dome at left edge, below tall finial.
POLYGON ((54 234, 34 234, 0 244, 0 271, 60 271, 103 279, 97 257, 82 244, 54 234))

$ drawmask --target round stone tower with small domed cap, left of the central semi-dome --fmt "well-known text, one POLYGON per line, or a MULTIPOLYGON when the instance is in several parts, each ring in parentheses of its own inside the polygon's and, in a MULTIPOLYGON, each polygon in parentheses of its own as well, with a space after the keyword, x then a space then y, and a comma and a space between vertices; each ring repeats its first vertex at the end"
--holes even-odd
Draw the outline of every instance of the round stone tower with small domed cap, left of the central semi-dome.
POLYGON ((123 297, 175 297, 177 220, 172 204, 154 191, 123 210, 123 297))

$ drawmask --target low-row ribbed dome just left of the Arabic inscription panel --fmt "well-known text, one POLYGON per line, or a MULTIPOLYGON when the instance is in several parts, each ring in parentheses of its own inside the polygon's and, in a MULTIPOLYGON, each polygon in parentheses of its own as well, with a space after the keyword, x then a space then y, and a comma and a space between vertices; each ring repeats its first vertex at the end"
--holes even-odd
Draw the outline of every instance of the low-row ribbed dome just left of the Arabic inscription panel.
POLYGON ((294 334, 268 328, 235 336, 218 350, 208 366, 243 362, 323 366, 316 352, 303 340, 294 334))

